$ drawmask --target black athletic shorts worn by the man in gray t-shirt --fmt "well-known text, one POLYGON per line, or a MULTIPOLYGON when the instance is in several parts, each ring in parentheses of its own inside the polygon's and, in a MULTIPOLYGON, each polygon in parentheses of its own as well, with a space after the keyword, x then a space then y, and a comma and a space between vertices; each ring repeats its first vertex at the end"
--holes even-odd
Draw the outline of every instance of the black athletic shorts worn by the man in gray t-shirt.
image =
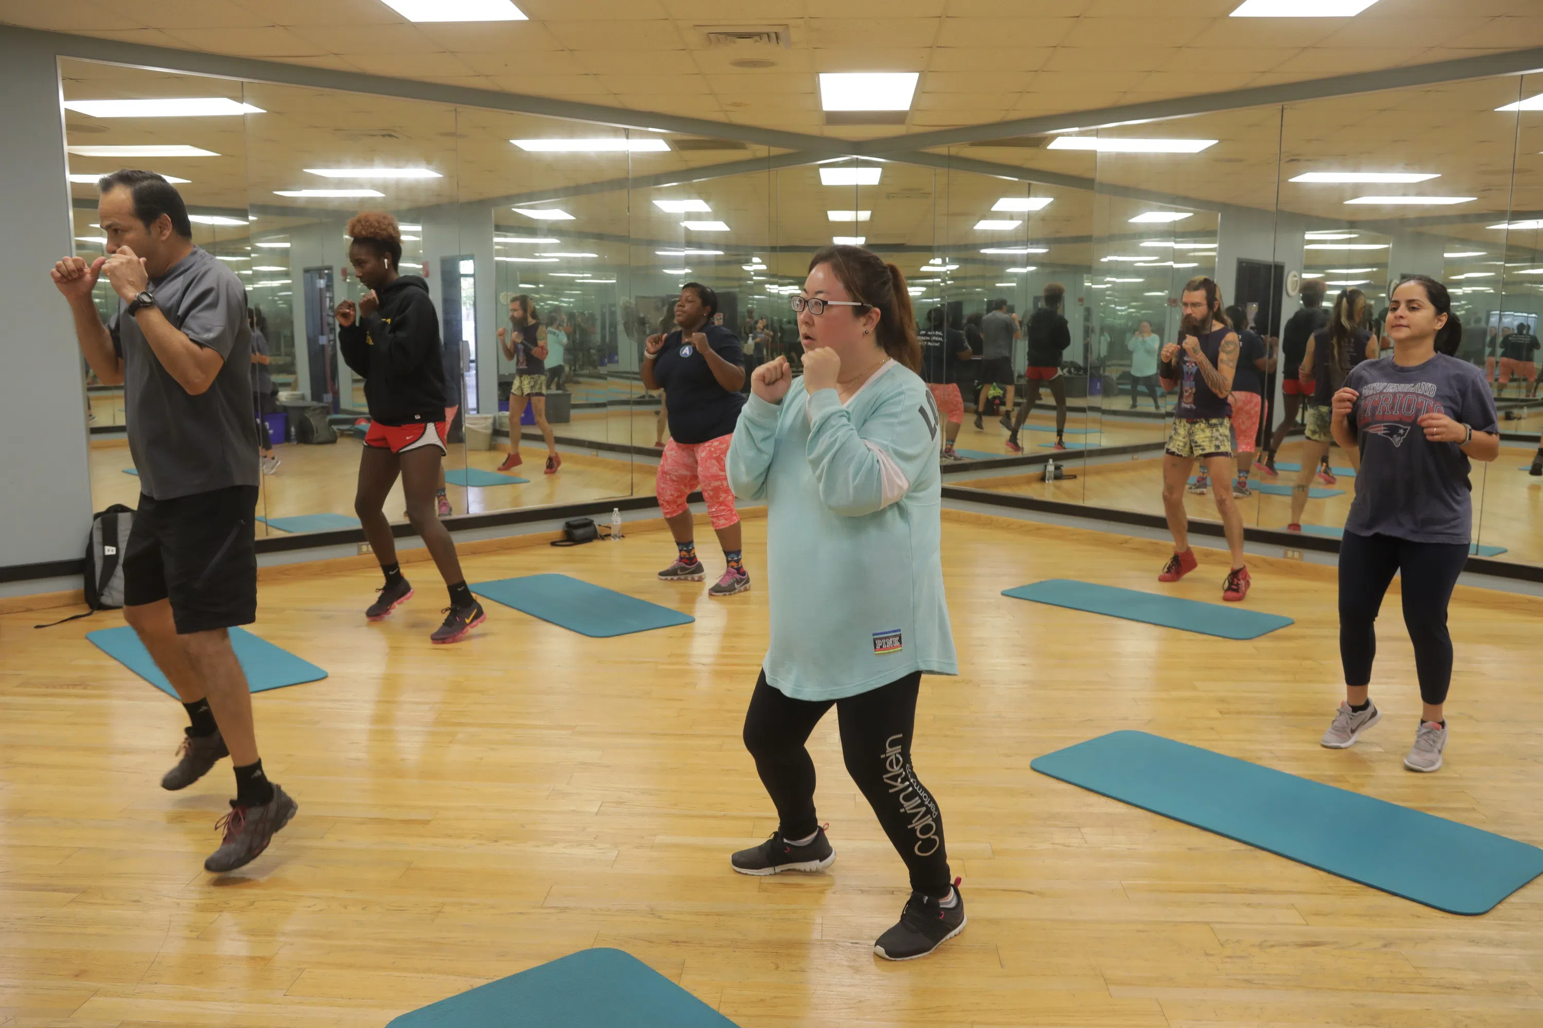
POLYGON ((123 549, 123 606, 171 600, 177 633, 258 620, 256 485, 140 495, 123 549))

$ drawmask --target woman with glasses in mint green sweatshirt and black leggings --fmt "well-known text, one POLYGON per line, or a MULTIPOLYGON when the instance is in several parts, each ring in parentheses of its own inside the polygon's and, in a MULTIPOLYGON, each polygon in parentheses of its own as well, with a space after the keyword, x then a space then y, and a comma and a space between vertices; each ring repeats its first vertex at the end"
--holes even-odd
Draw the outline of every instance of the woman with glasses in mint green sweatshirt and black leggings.
POLYGON ((938 410, 900 268, 827 247, 793 297, 804 378, 756 368, 728 448, 728 482, 767 501, 772 644, 745 714, 745 747, 778 831, 734 871, 824 871, 804 743, 830 707, 847 771, 910 871, 900 923, 873 945, 909 960, 964 929, 943 818, 910 764, 923 672, 955 675, 943 596, 938 410))

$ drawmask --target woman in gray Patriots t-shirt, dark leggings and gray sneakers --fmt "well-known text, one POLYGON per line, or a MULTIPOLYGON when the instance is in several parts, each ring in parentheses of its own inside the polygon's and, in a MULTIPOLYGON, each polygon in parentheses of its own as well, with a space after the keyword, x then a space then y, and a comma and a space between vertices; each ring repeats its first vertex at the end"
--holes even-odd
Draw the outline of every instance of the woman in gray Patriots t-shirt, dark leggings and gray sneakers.
POLYGON ((1358 364, 1333 396, 1335 442, 1347 453, 1359 445, 1361 470, 1339 544, 1345 701, 1322 744, 1355 746, 1381 717, 1367 697, 1373 623, 1396 572, 1424 703, 1404 766, 1435 771, 1447 741, 1441 707, 1452 683, 1447 601, 1467 561, 1474 524, 1469 458, 1500 456, 1498 418, 1484 373, 1450 356, 1463 325, 1444 285, 1423 274, 1403 279, 1386 331, 1392 359, 1358 364))

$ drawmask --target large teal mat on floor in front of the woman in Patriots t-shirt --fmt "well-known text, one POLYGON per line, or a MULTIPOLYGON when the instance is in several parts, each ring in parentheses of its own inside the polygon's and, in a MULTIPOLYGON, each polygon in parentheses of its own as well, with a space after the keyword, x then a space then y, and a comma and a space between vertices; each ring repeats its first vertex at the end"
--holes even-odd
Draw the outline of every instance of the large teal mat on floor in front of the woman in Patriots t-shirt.
POLYGON ((1146 732, 1046 754, 1034 771, 1449 914, 1486 914, 1543 849, 1146 732))

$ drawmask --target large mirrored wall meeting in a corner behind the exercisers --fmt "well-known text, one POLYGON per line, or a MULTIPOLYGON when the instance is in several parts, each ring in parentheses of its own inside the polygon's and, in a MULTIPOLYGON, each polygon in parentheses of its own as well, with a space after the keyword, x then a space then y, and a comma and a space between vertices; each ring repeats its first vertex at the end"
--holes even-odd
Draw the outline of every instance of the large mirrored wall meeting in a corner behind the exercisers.
MULTIPOLYGON (((1250 526, 1322 535, 1344 524, 1355 475, 1332 452, 1293 509, 1316 456, 1295 395, 1301 330, 1358 290, 1378 356, 1390 284, 1437 276, 1464 324, 1460 356, 1484 368, 1503 418, 1501 459, 1475 465, 1475 550, 1543 563, 1531 541, 1543 476, 1528 473, 1543 432, 1543 105, 1526 103, 1543 76, 804 162, 728 139, 93 62, 62 62, 62 77, 66 106, 231 102, 176 119, 66 109, 74 234, 99 254, 96 177, 150 166, 182 190, 194 240, 247 284, 268 351, 253 388, 278 458, 262 490, 272 533, 352 516, 367 410, 330 311, 363 293, 349 217, 386 210, 403 271, 423 276, 440 314, 457 515, 653 493, 668 419, 639 365, 680 287, 717 291, 747 364, 796 365, 788 297, 810 254, 855 242, 906 274, 926 376, 963 401, 946 481, 1151 515, 1177 399, 1154 356, 1179 338, 1183 284, 1214 277, 1250 328, 1239 388, 1261 416, 1244 435, 1276 473, 1194 482, 1185 506, 1214 519, 1225 489, 1250 526), (103 149, 151 145, 171 149, 103 149), (540 367, 511 345, 511 313, 526 308, 546 328, 540 367)), ((116 308, 105 285, 100 305, 116 308)), ((131 504, 120 390, 86 379, 86 391, 97 507, 131 504)), ((387 513, 401 516, 400 496, 387 513)))

